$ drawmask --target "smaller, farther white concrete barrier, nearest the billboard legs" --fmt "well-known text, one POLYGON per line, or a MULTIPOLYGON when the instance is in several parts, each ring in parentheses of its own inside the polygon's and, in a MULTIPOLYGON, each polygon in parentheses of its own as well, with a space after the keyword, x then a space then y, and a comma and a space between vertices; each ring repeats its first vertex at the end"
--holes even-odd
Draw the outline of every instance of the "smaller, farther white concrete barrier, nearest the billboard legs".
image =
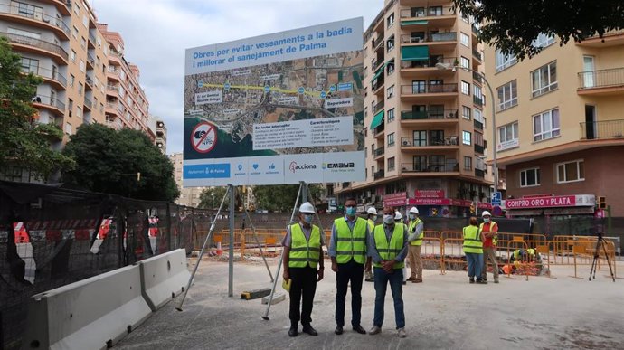
POLYGON ((184 291, 191 274, 186 267, 186 250, 169 251, 139 262, 141 289, 152 311, 163 307, 184 291))

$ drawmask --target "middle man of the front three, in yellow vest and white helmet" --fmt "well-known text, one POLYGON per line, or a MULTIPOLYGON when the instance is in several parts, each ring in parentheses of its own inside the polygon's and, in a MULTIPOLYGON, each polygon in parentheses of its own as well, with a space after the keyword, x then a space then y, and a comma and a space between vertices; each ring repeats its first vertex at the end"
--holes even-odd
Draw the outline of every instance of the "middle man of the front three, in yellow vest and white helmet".
POLYGON ((359 334, 366 334, 360 325, 362 318, 362 282, 364 267, 371 269, 366 244, 369 241, 368 222, 357 217, 355 198, 345 202, 345 216, 334 221, 327 252, 336 272, 336 335, 343 334, 345 326, 346 290, 351 285, 351 326, 359 334))

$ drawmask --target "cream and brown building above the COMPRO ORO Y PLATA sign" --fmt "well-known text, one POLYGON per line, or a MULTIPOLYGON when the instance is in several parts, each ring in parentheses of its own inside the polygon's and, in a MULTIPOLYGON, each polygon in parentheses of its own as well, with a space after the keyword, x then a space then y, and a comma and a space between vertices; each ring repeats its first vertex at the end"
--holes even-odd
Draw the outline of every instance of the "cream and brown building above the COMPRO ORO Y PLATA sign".
POLYGON ((624 32, 534 45, 543 51, 525 61, 485 49, 507 213, 600 216, 594 199, 606 197, 624 216, 624 32))

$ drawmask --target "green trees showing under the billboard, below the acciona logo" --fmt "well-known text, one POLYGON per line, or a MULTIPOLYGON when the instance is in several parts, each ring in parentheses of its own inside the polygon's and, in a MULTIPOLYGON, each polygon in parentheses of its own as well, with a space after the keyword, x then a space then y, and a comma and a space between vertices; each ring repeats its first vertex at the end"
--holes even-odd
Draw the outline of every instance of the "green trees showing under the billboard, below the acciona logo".
MULTIPOLYGON (((318 203, 323 194, 319 184, 309 184, 310 194, 314 202, 318 203)), ((288 213, 292 211, 297 200, 298 184, 262 185, 253 187, 253 196, 256 198, 256 208, 271 212, 288 213)), ((307 202, 307 199, 299 203, 307 202)))

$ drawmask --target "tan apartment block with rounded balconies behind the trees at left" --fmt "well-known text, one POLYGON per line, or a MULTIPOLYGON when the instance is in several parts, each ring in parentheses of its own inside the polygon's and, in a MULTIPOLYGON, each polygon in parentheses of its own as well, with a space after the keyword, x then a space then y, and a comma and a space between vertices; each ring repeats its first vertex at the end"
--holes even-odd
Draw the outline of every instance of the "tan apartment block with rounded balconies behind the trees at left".
MULTIPOLYGON (((51 140, 57 150, 85 123, 147 133, 148 104, 138 86, 138 68, 116 54, 123 52, 118 33, 109 33, 106 24, 97 22, 87 1, 0 0, 0 35, 22 57, 23 70, 43 79, 33 107, 40 123, 63 131, 61 139, 51 140), (120 78, 111 68, 126 76, 120 78), (113 87, 116 91, 111 92, 113 87), (118 103, 111 111, 114 102, 118 103)), ((5 179, 35 181, 17 165, 7 171, 5 179)))

